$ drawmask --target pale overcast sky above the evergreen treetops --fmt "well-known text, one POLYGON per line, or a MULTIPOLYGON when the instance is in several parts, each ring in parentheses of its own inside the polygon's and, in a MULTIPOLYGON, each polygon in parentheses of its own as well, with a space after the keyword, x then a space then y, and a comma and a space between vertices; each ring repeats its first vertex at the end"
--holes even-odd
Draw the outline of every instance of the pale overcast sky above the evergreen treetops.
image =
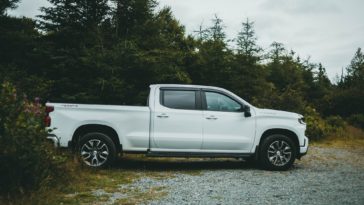
MULTIPOLYGON (((255 22, 258 44, 273 41, 296 51, 301 58, 321 62, 329 78, 341 73, 356 49, 364 49, 364 0, 159 0, 193 33, 210 26, 217 14, 228 38, 235 38, 246 18, 255 22)), ((10 15, 35 17, 46 0, 22 0, 10 15)))

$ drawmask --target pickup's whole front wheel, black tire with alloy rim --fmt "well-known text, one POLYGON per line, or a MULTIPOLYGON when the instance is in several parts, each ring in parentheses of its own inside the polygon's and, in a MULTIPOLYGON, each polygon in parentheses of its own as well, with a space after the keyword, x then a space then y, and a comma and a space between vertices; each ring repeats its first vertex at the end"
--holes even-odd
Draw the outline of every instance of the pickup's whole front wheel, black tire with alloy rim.
POLYGON ((263 169, 287 170, 297 155, 297 147, 289 137, 273 134, 264 139, 259 149, 259 163, 263 169))

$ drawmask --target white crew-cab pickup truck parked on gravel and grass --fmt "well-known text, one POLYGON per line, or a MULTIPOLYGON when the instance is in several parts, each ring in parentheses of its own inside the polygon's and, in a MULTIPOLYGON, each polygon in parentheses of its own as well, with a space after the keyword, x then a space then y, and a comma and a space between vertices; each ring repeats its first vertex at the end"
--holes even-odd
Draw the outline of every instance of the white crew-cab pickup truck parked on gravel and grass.
POLYGON ((218 87, 151 85, 148 106, 46 104, 48 138, 92 167, 118 153, 233 157, 286 170, 305 155, 302 115, 259 109, 218 87))

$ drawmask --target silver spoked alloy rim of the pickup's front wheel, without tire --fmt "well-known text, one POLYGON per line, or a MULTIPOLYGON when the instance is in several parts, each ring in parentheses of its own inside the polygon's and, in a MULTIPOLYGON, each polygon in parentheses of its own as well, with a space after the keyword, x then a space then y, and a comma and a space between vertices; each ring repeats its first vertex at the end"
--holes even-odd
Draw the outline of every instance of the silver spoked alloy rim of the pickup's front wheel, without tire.
POLYGON ((292 148, 284 140, 273 141, 268 148, 268 159, 274 166, 286 165, 292 157, 292 148))

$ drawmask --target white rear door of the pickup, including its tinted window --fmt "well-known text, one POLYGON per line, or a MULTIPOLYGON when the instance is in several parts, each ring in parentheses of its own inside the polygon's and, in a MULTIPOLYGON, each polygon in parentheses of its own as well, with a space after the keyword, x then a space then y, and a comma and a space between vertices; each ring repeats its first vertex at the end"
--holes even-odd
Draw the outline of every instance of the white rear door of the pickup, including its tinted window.
POLYGON ((200 91, 193 88, 156 90, 152 111, 152 151, 199 151, 202 145, 200 91))

